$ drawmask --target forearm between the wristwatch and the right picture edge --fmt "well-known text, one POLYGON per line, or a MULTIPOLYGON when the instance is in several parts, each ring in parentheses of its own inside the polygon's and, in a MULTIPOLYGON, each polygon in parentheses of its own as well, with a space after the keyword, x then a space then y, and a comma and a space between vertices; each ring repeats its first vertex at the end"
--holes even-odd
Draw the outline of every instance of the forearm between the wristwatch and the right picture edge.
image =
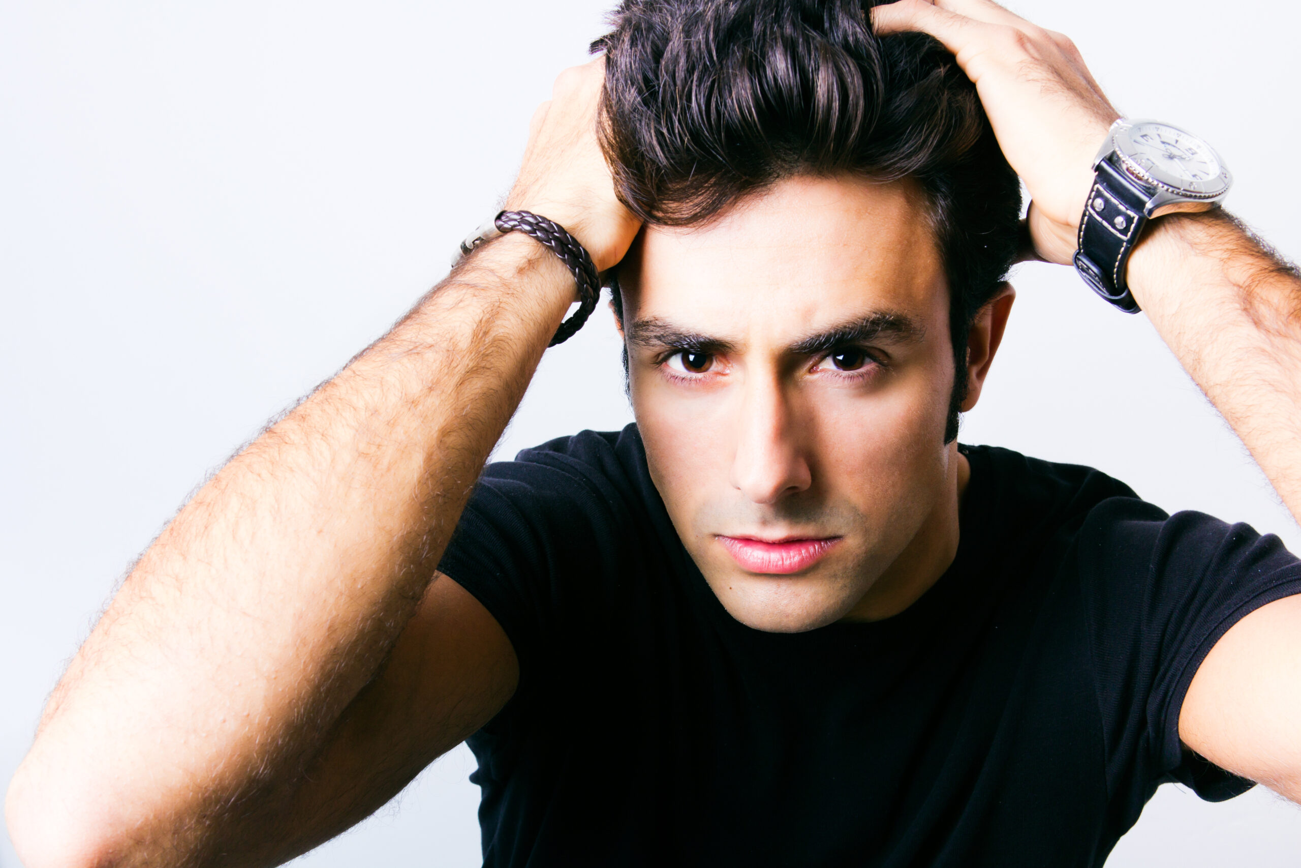
POLYGON ((1153 325, 1301 519, 1301 280, 1228 215, 1171 215, 1129 263, 1153 325))

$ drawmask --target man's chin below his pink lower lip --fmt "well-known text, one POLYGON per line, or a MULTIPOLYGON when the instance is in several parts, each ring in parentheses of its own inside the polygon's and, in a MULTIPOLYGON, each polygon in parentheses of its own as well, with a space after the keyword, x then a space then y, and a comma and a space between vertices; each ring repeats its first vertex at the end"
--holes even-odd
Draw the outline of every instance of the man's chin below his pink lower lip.
POLYGON ((847 592, 812 576, 732 574, 705 580, 727 614, 764 632, 805 632, 835 623, 866 591, 847 592))

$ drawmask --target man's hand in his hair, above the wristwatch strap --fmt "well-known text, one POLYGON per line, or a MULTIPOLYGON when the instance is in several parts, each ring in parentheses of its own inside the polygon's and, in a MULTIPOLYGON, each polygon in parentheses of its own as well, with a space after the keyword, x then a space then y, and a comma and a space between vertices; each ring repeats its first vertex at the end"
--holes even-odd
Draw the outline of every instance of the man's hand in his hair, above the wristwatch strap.
POLYGON ((872 23, 878 34, 928 33, 954 52, 1030 191, 1034 252, 1069 264, 1093 156, 1119 117, 1075 44, 993 0, 899 0, 876 7, 872 23))

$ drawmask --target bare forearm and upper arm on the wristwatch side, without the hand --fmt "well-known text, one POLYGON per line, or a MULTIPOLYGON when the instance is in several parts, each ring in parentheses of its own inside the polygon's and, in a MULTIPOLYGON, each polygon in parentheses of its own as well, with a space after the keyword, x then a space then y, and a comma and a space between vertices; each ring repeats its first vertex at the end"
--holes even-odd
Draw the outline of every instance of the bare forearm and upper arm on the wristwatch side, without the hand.
MULTIPOLYGON (((1301 280, 1224 215, 1158 225, 1131 263, 1136 298, 1301 517, 1301 280)), ((1179 734, 1216 765, 1301 802, 1301 596, 1257 609, 1215 643, 1179 734)))

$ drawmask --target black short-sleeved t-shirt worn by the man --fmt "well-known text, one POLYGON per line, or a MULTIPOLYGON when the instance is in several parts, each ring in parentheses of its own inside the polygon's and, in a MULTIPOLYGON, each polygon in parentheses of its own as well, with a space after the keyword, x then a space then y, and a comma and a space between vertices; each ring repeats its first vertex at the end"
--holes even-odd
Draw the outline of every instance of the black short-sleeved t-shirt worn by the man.
POLYGON ((468 742, 485 864, 1101 865, 1158 783, 1246 790, 1179 711, 1297 560, 1088 467, 963 452, 943 576, 801 634, 727 614, 634 426, 489 466, 440 565, 519 657, 468 742))

